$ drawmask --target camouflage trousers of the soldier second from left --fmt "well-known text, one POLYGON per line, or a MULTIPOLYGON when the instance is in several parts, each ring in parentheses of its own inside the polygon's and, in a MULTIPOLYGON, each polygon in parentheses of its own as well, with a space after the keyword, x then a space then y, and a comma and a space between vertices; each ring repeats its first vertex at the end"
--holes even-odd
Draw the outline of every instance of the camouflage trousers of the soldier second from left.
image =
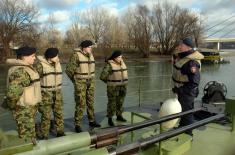
POLYGON ((62 92, 42 91, 42 102, 38 106, 41 113, 41 132, 44 137, 48 137, 50 129, 51 113, 53 112, 55 129, 57 133, 64 132, 64 119, 62 108, 62 92))

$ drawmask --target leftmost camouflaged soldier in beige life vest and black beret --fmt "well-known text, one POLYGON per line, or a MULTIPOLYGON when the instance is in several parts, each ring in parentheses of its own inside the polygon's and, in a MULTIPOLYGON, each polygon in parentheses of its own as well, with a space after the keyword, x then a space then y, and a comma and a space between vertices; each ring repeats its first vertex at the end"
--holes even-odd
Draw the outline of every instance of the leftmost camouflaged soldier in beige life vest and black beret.
POLYGON ((30 138, 33 144, 36 144, 36 106, 41 102, 40 79, 32 66, 35 52, 35 48, 21 47, 16 51, 17 59, 7 61, 14 65, 8 71, 7 104, 16 120, 19 138, 30 138))

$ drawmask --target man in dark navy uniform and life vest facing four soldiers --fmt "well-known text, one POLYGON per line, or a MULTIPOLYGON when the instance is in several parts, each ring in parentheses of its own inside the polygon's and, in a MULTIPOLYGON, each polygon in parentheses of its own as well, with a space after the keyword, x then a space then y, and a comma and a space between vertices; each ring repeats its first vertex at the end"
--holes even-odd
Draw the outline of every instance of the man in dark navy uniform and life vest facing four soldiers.
MULTIPOLYGON (((197 97, 200 83, 200 70, 203 55, 198 51, 194 51, 194 44, 190 38, 183 39, 179 46, 179 53, 173 66, 173 82, 172 91, 177 94, 181 104, 182 111, 194 108, 194 99, 197 97)), ((193 114, 181 117, 179 126, 185 126, 194 122, 193 114)), ((193 135, 192 131, 186 132, 193 135)))

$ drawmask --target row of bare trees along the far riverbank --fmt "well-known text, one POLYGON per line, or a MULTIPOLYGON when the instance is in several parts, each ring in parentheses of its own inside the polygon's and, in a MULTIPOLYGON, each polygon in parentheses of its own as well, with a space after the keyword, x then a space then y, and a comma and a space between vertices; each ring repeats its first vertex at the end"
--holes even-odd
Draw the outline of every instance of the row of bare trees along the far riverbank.
POLYGON ((188 36, 199 46, 204 29, 200 15, 167 1, 151 9, 140 4, 129 7, 118 17, 103 7, 78 10, 64 35, 56 28, 53 14, 44 26, 39 15, 39 8, 25 0, 0 1, 0 59, 15 46, 75 48, 84 39, 101 48, 135 49, 142 57, 149 57, 150 49, 171 54, 178 41, 188 36))

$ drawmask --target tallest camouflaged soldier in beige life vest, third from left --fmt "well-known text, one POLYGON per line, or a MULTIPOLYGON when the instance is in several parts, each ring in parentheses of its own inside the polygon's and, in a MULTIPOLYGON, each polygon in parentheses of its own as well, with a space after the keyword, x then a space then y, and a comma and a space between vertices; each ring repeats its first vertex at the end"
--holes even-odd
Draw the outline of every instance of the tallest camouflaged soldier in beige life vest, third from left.
POLYGON ((66 74, 74 84, 75 95, 75 131, 81 132, 81 120, 85 106, 87 105, 87 115, 90 127, 100 127, 94 116, 94 77, 95 60, 92 54, 92 41, 81 42, 80 47, 75 49, 70 61, 66 66, 66 74))

